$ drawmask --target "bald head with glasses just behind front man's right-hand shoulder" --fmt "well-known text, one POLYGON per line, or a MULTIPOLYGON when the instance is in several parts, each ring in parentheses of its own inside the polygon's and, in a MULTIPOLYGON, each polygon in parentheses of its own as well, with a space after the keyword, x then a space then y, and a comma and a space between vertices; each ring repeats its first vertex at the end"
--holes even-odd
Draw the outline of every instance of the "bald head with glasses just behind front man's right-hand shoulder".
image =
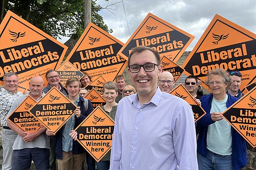
POLYGON ((163 71, 159 76, 158 85, 161 91, 166 93, 170 92, 174 86, 174 77, 173 74, 169 71, 163 71))

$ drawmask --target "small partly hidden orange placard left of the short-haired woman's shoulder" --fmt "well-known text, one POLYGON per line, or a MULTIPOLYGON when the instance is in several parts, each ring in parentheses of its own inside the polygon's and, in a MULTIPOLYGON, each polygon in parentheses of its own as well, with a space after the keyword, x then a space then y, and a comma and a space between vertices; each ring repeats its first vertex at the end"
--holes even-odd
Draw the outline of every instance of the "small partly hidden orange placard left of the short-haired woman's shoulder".
POLYGON ((97 106, 101 107, 101 106, 105 105, 105 103, 106 103, 105 99, 95 88, 92 88, 88 92, 88 94, 86 95, 86 99, 88 99, 92 102, 93 108, 96 108, 97 106))

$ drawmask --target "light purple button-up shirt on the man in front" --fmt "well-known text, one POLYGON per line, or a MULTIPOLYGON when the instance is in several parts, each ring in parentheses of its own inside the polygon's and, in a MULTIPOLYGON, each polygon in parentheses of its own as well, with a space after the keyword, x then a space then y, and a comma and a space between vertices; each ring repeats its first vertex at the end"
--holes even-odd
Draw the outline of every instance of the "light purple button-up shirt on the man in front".
POLYGON ((137 94, 118 103, 111 170, 196 170, 196 132, 191 106, 158 88, 149 103, 137 94))

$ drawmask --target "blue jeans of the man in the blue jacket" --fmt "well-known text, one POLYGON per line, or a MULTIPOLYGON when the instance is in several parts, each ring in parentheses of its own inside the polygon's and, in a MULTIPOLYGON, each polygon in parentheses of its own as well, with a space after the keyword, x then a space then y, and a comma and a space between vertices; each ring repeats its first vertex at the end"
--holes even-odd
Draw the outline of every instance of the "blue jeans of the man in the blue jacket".
POLYGON ((207 149, 206 157, 197 153, 197 161, 199 170, 232 170, 232 154, 231 155, 218 155, 207 149))

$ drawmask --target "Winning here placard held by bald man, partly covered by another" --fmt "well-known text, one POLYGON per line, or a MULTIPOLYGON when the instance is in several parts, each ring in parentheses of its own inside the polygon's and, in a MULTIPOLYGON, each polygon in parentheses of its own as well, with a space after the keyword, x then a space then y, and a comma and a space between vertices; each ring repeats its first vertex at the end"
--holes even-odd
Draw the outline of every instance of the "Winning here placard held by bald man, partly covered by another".
POLYGON ((42 127, 42 124, 29 112, 35 104, 36 101, 28 95, 8 119, 24 132, 36 132, 42 127))

